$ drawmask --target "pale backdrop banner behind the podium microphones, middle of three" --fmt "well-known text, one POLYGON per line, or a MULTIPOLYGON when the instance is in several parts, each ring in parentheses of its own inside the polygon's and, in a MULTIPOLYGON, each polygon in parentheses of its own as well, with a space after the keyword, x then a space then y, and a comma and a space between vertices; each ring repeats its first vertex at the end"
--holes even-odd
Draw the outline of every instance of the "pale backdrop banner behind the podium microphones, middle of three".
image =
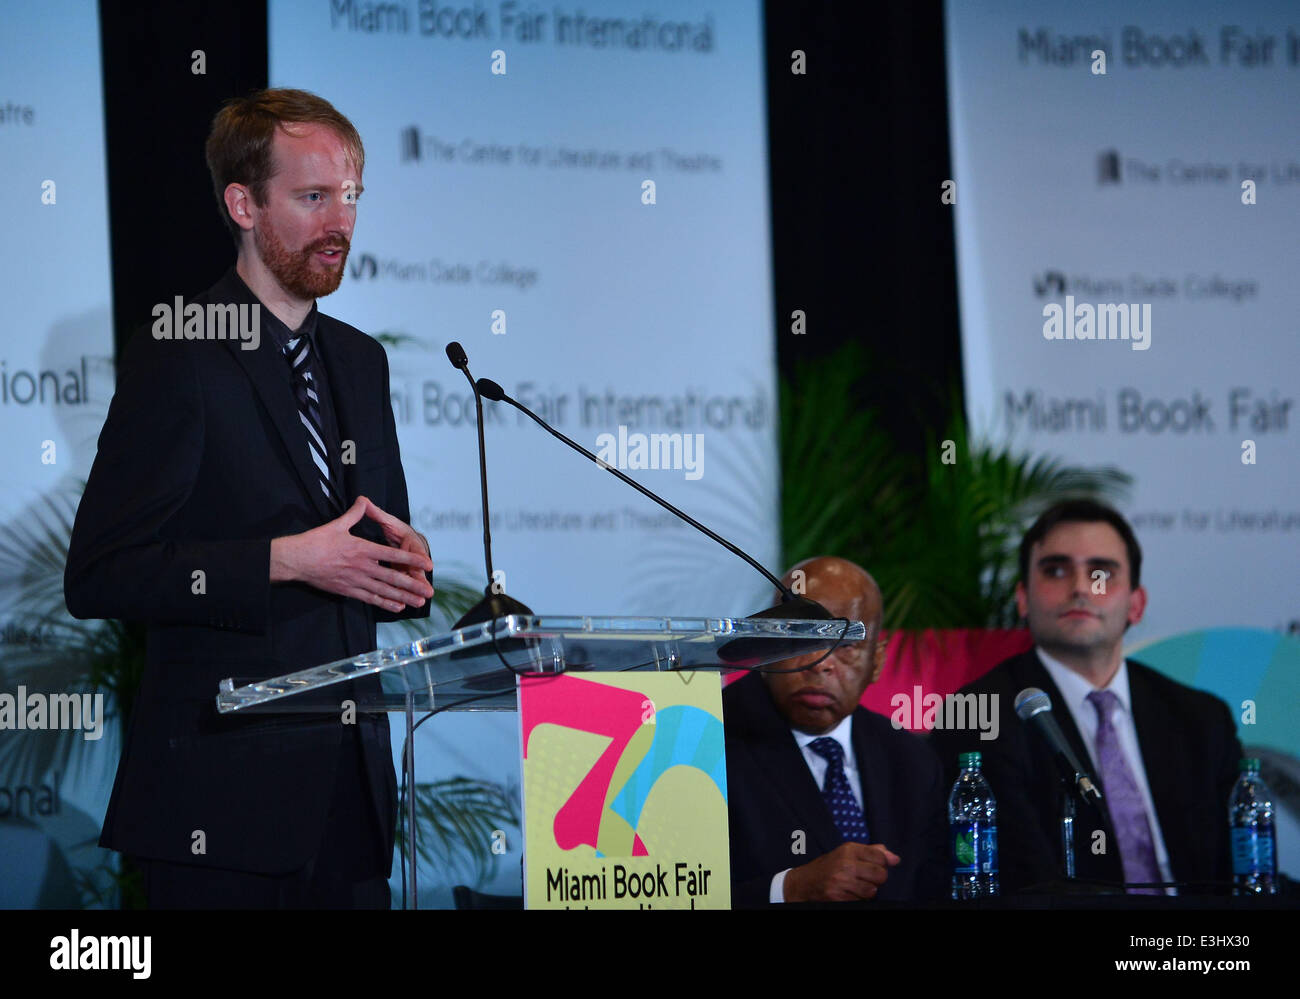
MULTIPOLYGON (((476 376, 774 558, 758 4, 385 9, 273 3, 270 77, 325 96, 367 143, 347 276, 321 308, 415 338, 390 349, 391 390, 412 518, 436 561, 485 583, 473 405, 443 355, 452 340, 476 376)), ((733 555, 489 407, 494 562, 512 596, 564 614, 767 601, 733 555)))

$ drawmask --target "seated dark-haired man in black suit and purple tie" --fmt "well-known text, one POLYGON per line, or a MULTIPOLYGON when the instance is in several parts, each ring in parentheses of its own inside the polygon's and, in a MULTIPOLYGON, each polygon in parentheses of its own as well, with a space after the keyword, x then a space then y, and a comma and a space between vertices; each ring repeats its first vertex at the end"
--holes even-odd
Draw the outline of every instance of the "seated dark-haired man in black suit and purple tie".
POLYGON ((997 697, 1000 735, 933 736, 953 774, 959 752, 984 754, 1002 891, 1063 878, 1057 770, 1014 710, 1026 687, 1052 699, 1075 757, 1101 784, 1100 806, 1078 804, 1076 878, 1228 881, 1227 800, 1242 745, 1221 700, 1122 656, 1124 631, 1147 607, 1132 528, 1092 501, 1057 503, 1024 535, 1019 562, 1017 605, 1036 645, 962 691, 997 697))

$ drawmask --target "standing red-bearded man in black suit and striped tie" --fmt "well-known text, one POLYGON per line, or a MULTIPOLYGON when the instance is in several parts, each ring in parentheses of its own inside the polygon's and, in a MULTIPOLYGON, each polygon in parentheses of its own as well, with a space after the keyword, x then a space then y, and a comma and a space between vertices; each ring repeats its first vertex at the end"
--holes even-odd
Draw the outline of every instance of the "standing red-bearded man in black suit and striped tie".
POLYGON ((343 277, 364 156, 304 91, 217 113, 207 159, 237 263, 129 343, 77 511, 70 613, 147 626, 100 846, 135 860, 152 907, 389 905, 389 725, 344 705, 377 680, 339 684, 330 715, 214 706, 226 676, 355 656, 377 620, 429 614, 387 358, 315 303, 343 277))

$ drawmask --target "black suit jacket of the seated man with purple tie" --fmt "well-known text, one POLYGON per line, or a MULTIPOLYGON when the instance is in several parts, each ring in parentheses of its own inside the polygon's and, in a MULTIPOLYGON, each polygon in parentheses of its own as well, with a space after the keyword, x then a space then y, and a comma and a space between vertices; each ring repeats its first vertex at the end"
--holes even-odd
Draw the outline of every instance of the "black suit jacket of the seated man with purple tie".
MULTIPOLYGON (((1004 892, 1063 878, 1057 771, 1043 740, 1015 714, 1015 696, 1026 687, 1037 687, 1052 699, 1061 731, 1079 761, 1088 766, 1079 728, 1034 650, 998 663, 962 689, 962 693, 997 695, 997 739, 982 740, 979 732, 936 730, 933 734, 952 777, 959 752, 983 754, 984 775, 997 800, 1004 892)), ((1147 783, 1174 881, 1228 881, 1227 800, 1236 780, 1242 744, 1227 705, 1132 659, 1128 659, 1128 691, 1147 783)), ((1104 804, 1102 808, 1079 805, 1075 874, 1080 879, 1122 882, 1119 848, 1104 804), (1092 852, 1093 830, 1098 829, 1105 831, 1106 844, 1100 855, 1092 852)))

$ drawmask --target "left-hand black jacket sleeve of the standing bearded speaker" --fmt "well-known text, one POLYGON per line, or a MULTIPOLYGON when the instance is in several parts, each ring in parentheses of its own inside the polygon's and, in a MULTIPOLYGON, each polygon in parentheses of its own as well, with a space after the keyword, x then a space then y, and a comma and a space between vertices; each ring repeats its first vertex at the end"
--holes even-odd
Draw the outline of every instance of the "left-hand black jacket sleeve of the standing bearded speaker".
POLYGON ((209 540, 169 536, 203 454, 194 353, 148 328, 127 345, 68 548, 64 594, 75 618, 266 630, 269 537, 222 540, 220 524, 209 540))

